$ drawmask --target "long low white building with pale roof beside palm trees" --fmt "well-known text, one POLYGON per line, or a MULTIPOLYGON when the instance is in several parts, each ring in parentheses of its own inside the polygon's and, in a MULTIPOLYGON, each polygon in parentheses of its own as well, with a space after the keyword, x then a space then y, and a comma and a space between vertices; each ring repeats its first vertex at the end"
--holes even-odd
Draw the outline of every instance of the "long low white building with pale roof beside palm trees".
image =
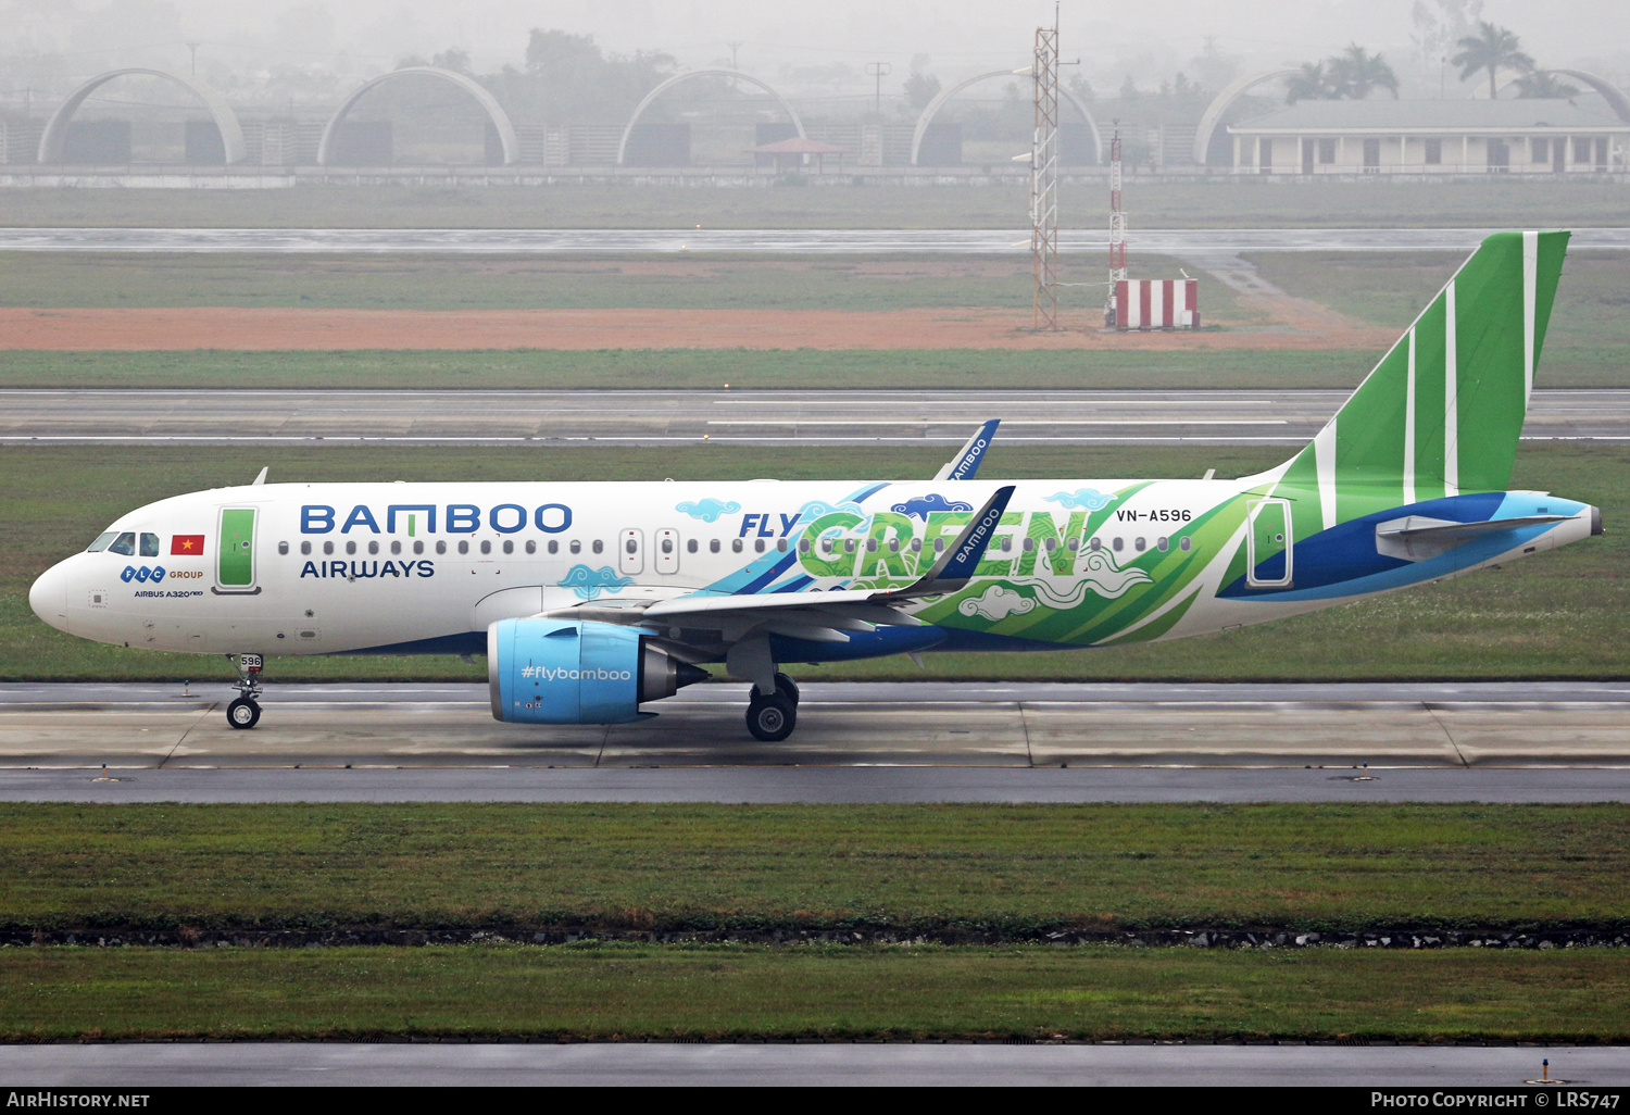
POLYGON ((1301 101, 1231 124, 1236 174, 1623 171, 1630 122, 1573 101, 1301 101))

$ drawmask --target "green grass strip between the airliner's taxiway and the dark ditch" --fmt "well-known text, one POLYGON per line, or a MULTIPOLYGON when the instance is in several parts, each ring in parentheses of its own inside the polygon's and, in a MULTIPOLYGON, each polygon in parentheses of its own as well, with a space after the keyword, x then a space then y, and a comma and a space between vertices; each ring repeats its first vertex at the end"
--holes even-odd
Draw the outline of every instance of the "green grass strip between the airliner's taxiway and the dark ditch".
POLYGON ((8 804, 0 849, 8 932, 1630 926, 1615 804, 8 804))

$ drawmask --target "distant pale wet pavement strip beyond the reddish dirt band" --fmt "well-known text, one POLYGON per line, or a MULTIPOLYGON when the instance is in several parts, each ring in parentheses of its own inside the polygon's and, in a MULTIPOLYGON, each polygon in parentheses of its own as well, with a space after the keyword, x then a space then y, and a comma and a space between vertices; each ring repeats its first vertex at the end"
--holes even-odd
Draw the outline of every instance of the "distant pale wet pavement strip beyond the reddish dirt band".
MULTIPOLYGON (((1138 251, 1470 251, 1495 228, 1138 228, 1138 251)), ((1630 228, 1579 228, 1570 248, 1630 248, 1630 228)), ((1099 228, 1061 253, 1102 253, 1099 228)), ((1029 254, 1029 228, 0 228, 0 251, 1029 254)))

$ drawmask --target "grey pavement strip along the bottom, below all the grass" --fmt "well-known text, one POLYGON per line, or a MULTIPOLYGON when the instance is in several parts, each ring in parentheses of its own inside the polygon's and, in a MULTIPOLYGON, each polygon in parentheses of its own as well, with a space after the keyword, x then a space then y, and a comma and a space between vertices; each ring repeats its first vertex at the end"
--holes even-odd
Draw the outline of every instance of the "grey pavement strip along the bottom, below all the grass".
MULTIPOLYGON (((1498 1087, 1539 1107, 1540 1061, 1581 1091, 1630 1084, 1623 1047, 1314 1045, 13 1045, 11 1087, 1320 1086, 1498 1087)), ((1563 1104, 1566 1092, 1547 1099, 1563 1104)), ((1369 1097, 1364 1097, 1366 1100, 1369 1097)), ((1607 1097, 1612 1102, 1612 1095, 1607 1097)), ((1428 1097, 1430 1104, 1430 1097, 1428 1097)), ((1452 1107, 1452 1104, 1439 1104, 1452 1107)), ((1511 1104, 1516 1105, 1516 1104, 1511 1104)), ((1568 1105, 1584 1107, 1575 1100, 1568 1105)))

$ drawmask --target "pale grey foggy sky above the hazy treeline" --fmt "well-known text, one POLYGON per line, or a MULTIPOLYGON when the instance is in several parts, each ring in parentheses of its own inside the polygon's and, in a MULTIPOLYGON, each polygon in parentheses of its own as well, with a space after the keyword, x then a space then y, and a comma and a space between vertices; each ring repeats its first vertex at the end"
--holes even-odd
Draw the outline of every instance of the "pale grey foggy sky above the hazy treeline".
MULTIPOLYGON (((1402 75, 1420 68, 1413 3, 1068 0, 1061 41, 1064 57, 1081 57, 1081 73, 1099 88, 1126 73, 1169 78, 1206 36, 1244 68, 1302 62, 1356 41, 1386 52, 1402 75)), ((1625 0, 1483 0, 1482 16, 1516 31, 1542 65, 1630 75, 1625 0)), ((543 26, 593 34, 608 51, 665 51, 685 68, 727 60, 737 41, 742 68, 764 77, 887 60, 900 82, 913 59, 942 78, 1022 65, 1035 26, 1051 20, 1051 0, 0 0, 0 52, 65 54, 82 73, 109 64, 184 68, 191 39, 202 60, 241 67, 264 57, 377 73, 404 55, 461 47, 487 72, 520 65, 528 29, 543 26)), ((870 86, 864 77, 857 83, 870 86)))

